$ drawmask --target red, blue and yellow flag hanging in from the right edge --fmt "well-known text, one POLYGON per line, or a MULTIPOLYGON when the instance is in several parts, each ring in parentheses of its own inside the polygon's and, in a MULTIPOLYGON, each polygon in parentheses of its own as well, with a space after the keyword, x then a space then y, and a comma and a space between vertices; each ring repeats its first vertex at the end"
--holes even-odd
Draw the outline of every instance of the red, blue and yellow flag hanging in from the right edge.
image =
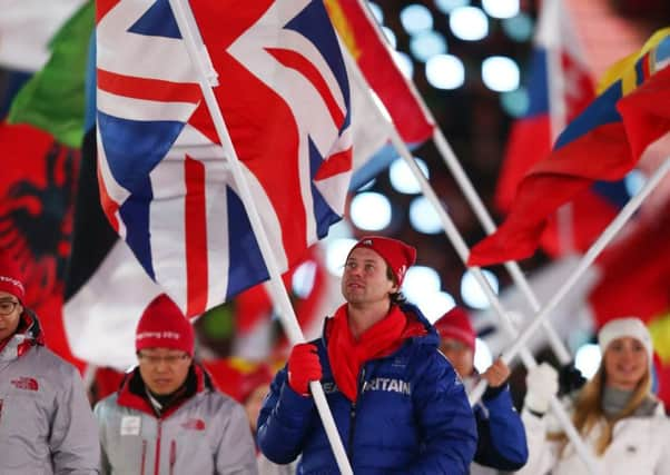
POLYGON ((504 224, 471 250, 469 265, 530 257, 548 217, 597 180, 619 180, 670 131, 670 29, 561 133, 521 181, 504 224))

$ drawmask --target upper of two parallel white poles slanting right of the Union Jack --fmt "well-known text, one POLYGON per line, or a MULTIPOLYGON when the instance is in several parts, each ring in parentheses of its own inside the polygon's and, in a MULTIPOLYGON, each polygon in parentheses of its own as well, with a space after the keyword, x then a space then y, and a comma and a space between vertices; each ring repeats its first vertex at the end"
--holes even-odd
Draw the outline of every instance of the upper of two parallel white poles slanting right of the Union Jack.
MULTIPOLYGON (((357 0, 357 1, 362 2, 362 0, 357 0)), ((361 7, 362 7, 363 11, 365 12, 368 21, 371 21, 375 26, 375 29, 377 31, 380 39, 385 44, 386 49, 391 52, 391 47, 388 46, 388 43, 385 40, 382 32, 380 31, 378 24, 377 24, 376 20, 374 19, 374 16, 370 12, 366 4, 361 3, 361 7)), ((403 76, 403 79, 405 80, 407 88, 410 88, 413 96, 416 98, 417 102, 422 106, 422 109, 423 109, 424 113, 426 115, 426 117, 430 119, 431 122, 436 123, 432 112, 427 109, 427 107, 425 107, 423 98, 416 91, 414 83, 412 81, 407 80, 404 76, 403 76)), ((465 199, 472 207, 475 216, 480 220, 480 222, 481 222, 482 227, 484 228, 484 230, 486 231, 486 234, 491 235, 491 234, 495 232, 496 227, 495 227, 493 219, 491 218, 491 215, 484 207, 482 199, 480 198, 479 194, 474 189, 470 178, 467 178, 467 175, 463 170, 463 167, 461 166, 461 162, 459 161, 454 151, 452 150, 449 141, 442 133, 442 130, 440 130, 440 128, 436 126, 433 131, 433 141, 435 142, 435 147, 437 148, 437 151, 440 151, 444 162, 446 164, 446 166, 449 167, 453 177, 455 178, 456 182, 459 184, 461 190, 463 191, 463 195, 465 196, 465 199)), ((514 261, 505 263, 505 268, 512 276, 512 279, 514 280, 514 283, 519 286, 519 288, 521 289, 523 295, 529 300, 529 304, 530 304, 532 310, 538 311, 540 309, 540 301, 538 300, 538 297, 535 296, 533 289, 529 285, 528 279, 521 271, 519 264, 516 264, 514 261)), ((505 318, 504 316, 500 316, 500 317, 505 318)), ((572 360, 570 352, 568 350, 568 348, 565 348, 565 345, 563 344, 563 342, 561 340, 559 335, 555 333, 555 329, 551 326, 551 323, 549 320, 546 320, 542 325, 542 327, 546 331, 546 337, 549 339, 551 348, 554 352, 554 354, 556 355, 556 357, 559 358, 559 362, 562 365, 569 364, 572 360)))

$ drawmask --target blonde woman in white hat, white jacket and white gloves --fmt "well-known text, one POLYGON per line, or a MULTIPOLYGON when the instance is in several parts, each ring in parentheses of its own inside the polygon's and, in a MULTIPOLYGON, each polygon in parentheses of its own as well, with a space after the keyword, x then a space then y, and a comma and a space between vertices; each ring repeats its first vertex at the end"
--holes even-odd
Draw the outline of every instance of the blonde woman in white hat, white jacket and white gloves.
MULTIPOLYGON (((595 461, 598 475, 670 475, 670 419, 651 393, 651 337, 638 318, 609 321, 598 335, 600 368, 568 397, 572 422, 595 461)), ((518 474, 581 475, 589 469, 549 409, 556 372, 529 372, 522 419, 529 461, 518 474)))

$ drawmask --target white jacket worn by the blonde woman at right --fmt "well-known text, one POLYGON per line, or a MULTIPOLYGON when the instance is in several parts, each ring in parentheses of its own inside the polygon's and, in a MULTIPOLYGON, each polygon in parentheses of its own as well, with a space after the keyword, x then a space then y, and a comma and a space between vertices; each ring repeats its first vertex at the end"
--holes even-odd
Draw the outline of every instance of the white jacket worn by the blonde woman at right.
MULTIPOLYGON (((522 413, 529 444, 529 461, 516 474, 588 475, 585 464, 568 444, 558 457, 558 443, 546 439, 548 428, 559 431, 551 414, 538 417, 522 413)), ((602 424, 597 424, 584 443, 591 447, 598 475, 670 475, 670 419, 662 403, 647 417, 627 417, 614 425, 612 443, 601 457, 593 449, 602 424)))

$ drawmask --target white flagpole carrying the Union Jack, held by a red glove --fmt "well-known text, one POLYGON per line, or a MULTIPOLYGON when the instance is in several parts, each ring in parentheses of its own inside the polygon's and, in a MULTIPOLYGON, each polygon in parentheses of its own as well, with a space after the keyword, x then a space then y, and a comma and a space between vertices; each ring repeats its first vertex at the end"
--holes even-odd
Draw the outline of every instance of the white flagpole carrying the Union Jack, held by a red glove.
MULTIPOLYGON (((211 62, 209 61, 209 55, 207 53, 206 46, 201 42, 201 40, 199 40, 199 42, 196 40, 196 38, 199 39, 199 29, 197 28, 197 23, 193 17, 193 11, 190 10, 190 6, 188 6, 188 3, 183 4, 184 0, 169 0, 169 2, 175 13, 177 24, 179 26, 179 31, 184 38, 184 43, 188 49, 191 62, 198 72, 200 89, 203 90, 205 102, 207 103, 207 109, 211 115, 211 120, 214 121, 221 147, 224 148, 224 151, 229 151, 230 171, 235 182, 238 186, 240 198, 245 205, 245 209, 252 224, 252 229, 254 230, 256 239, 258 240, 263 259, 267 266, 267 270, 270 276, 269 289, 273 295, 273 300, 279 306, 279 319, 282 320, 282 325, 284 326, 284 329, 286 330, 288 338, 293 344, 305 342, 305 336, 300 330, 293 306, 290 305, 290 300, 286 294, 286 289, 282 281, 282 274, 279 273, 279 268, 275 261, 270 244, 267 240, 267 236, 263 229, 260 216, 258 215, 258 210, 254 204, 254 199, 242 170, 242 166, 239 165, 239 159, 235 152, 226 122, 216 101, 216 97, 214 96, 210 83, 211 68, 206 68, 206 65, 211 65, 211 62)), ((352 467, 348 463, 344 445, 339 438, 339 434, 337 433, 337 426, 333 419, 333 414, 328 407, 328 403, 321 383, 311 382, 309 389, 312 390, 312 396, 314 397, 316 408, 318 409, 318 414, 324 424, 326 435, 328 436, 328 442, 333 448, 333 453, 341 473, 353 475, 352 467)))

